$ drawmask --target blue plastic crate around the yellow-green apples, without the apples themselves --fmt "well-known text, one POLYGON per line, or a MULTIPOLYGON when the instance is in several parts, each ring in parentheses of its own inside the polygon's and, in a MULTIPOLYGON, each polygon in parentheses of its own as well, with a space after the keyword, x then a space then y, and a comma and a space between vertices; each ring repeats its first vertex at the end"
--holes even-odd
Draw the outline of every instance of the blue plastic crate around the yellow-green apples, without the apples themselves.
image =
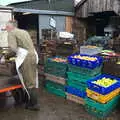
POLYGON ((95 78, 93 78, 91 80, 88 80, 87 85, 88 85, 88 88, 90 90, 93 90, 93 91, 98 92, 100 94, 106 95, 106 94, 108 94, 108 93, 112 92, 113 90, 120 87, 120 78, 117 78, 117 77, 111 76, 111 75, 107 75, 107 74, 102 74, 102 75, 97 76, 97 77, 95 77, 95 78), (100 85, 97 85, 97 84, 93 83, 93 81, 96 81, 98 79, 102 79, 104 77, 115 79, 115 80, 117 80, 117 82, 112 84, 109 87, 102 87, 100 85))

